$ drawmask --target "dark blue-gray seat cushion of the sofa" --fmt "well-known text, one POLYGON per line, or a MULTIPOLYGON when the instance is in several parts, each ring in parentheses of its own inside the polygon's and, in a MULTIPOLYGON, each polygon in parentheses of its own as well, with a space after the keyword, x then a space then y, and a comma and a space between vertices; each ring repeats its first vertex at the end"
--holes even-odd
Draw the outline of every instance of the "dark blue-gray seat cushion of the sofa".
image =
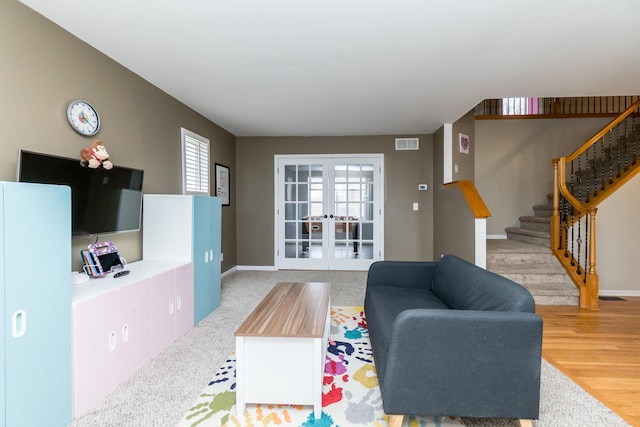
POLYGON ((405 310, 449 308, 431 291, 397 286, 376 286, 367 291, 365 317, 380 382, 384 380, 387 349, 395 318, 405 310))

